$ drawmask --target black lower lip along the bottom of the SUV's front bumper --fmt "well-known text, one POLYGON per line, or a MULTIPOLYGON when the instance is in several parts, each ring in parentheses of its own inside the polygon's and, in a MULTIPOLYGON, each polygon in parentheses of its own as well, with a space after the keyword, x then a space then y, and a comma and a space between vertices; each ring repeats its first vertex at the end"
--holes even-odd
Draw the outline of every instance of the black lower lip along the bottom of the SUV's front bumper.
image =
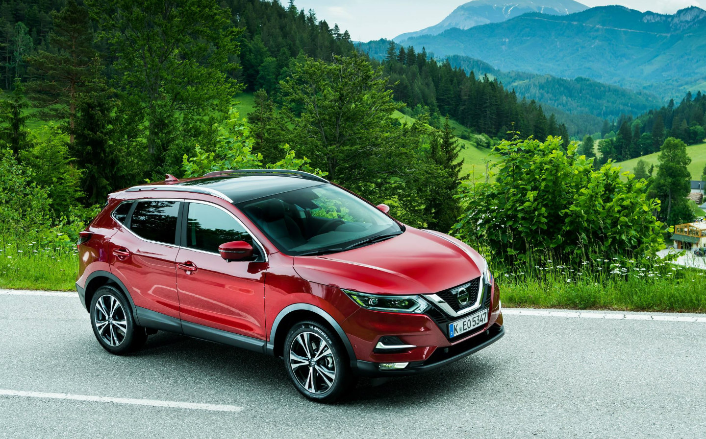
POLYGON ((379 363, 362 360, 354 361, 352 366, 354 373, 357 373, 357 375, 368 376, 371 378, 406 376, 413 375, 414 373, 433 371, 434 369, 451 364, 454 361, 458 361, 469 356, 470 354, 473 354, 474 352, 478 352, 484 347, 492 345, 494 342, 500 340, 503 335, 505 335, 505 327, 494 324, 488 328, 485 333, 475 335, 474 337, 460 342, 457 345, 436 350, 436 352, 434 352, 431 357, 425 361, 410 362, 405 369, 381 371, 379 363))

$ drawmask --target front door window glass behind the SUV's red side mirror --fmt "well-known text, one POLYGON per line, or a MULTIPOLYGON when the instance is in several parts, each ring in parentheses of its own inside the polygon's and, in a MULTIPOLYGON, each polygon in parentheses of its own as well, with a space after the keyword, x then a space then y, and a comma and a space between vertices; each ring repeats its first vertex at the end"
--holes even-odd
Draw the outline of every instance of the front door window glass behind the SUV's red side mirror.
POLYGON ((246 241, 252 237, 232 216, 215 206, 190 203, 186 222, 186 247, 218 253, 225 242, 246 241))

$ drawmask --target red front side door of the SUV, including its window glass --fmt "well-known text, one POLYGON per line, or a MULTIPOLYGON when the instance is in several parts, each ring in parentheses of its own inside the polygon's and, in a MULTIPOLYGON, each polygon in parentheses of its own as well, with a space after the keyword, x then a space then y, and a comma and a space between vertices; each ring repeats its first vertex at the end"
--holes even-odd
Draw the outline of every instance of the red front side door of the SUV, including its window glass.
POLYGON ((264 250, 246 228, 220 206, 189 202, 184 207, 177 290, 181 320, 265 339, 264 250), (255 261, 227 262, 218 246, 247 241, 255 261))

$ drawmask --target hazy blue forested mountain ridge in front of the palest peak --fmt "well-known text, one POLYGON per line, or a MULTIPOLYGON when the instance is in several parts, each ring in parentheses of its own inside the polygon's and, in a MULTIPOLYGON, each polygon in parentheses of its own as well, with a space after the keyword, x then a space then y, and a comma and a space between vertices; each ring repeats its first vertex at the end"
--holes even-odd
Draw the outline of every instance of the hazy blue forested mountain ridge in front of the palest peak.
POLYGON ((528 13, 502 23, 421 35, 405 45, 437 57, 479 58, 500 70, 652 90, 661 97, 706 81, 706 11, 674 15, 600 6, 568 16, 528 13))

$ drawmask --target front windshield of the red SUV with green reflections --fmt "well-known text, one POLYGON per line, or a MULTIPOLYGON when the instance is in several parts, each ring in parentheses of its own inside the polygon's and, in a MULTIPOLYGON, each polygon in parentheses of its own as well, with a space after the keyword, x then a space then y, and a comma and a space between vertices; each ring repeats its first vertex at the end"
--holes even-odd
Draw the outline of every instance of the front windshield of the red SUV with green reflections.
POLYGON ((402 233, 393 219, 334 185, 293 190, 237 204, 292 256, 341 252, 402 233))

